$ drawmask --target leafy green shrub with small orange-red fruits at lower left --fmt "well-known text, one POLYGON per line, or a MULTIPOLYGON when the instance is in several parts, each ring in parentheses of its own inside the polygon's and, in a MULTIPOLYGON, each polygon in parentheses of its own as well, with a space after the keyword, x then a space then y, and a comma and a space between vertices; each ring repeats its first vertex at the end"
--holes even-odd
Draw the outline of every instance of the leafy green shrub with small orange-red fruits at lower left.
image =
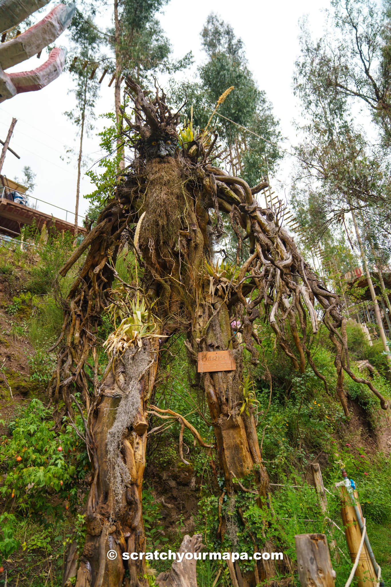
POLYGON ((88 461, 85 451, 76 451, 79 440, 74 429, 65 426, 57 433, 49 410, 33 399, 9 430, 11 438, 2 437, 0 453, 5 473, 0 495, 8 507, 48 515, 61 514, 65 504, 76 503, 74 478, 83 478, 88 461), (53 501, 53 495, 57 500, 53 501))

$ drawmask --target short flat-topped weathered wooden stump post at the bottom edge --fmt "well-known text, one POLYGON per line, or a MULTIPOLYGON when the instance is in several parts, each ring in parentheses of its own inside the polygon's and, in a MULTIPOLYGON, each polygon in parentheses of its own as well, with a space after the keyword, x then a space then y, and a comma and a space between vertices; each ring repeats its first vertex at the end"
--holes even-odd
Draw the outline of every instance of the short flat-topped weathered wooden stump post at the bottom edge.
POLYGON ((302 587, 334 587, 335 571, 331 566, 325 534, 295 535, 297 569, 302 587))

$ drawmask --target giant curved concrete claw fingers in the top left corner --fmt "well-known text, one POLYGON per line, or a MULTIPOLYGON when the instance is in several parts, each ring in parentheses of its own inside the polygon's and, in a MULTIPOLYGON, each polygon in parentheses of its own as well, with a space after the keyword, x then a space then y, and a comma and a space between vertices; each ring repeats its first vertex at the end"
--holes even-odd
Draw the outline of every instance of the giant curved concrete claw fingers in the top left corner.
MULTIPOLYGON (((47 2, 0 0, 0 32, 15 27, 47 2)), ((70 25, 74 11, 74 4, 59 4, 36 25, 0 45, 0 102, 22 92, 40 90, 60 75, 66 57, 66 49, 60 48, 52 49, 46 62, 36 69, 20 73, 4 70, 37 55, 53 43, 70 25)))

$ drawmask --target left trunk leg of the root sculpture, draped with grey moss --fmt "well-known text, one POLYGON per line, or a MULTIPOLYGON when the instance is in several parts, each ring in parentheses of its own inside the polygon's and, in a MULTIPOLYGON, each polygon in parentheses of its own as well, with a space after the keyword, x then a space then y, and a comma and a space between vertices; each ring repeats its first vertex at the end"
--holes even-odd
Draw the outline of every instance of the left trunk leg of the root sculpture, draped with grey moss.
MULTIPOLYGON (((148 587, 144 559, 123 561, 122 553, 145 552, 145 412, 157 372, 157 349, 157 342, 144 339, 138 352, 126 351, 117 360, 115 374, 111 370, 107 376, 96 403, 91 424, 93 482, 76 587, 148 587), (114 551, 113 559, 108 551, 114 551), (126 569, 130 579, 124 579, 126 569)), ((69 581, 72 575, 66 571, 64 576, 69 581)))

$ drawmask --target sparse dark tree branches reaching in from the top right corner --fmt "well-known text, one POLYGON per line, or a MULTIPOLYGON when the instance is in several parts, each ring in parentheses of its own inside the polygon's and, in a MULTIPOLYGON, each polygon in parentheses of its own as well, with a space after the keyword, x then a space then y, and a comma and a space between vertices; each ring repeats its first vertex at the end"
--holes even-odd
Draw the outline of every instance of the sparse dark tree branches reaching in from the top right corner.
POLYGON ((314 55, 325 87, 368 107, 391 141, 391 3, 332 0, 327 35, 314 55))

